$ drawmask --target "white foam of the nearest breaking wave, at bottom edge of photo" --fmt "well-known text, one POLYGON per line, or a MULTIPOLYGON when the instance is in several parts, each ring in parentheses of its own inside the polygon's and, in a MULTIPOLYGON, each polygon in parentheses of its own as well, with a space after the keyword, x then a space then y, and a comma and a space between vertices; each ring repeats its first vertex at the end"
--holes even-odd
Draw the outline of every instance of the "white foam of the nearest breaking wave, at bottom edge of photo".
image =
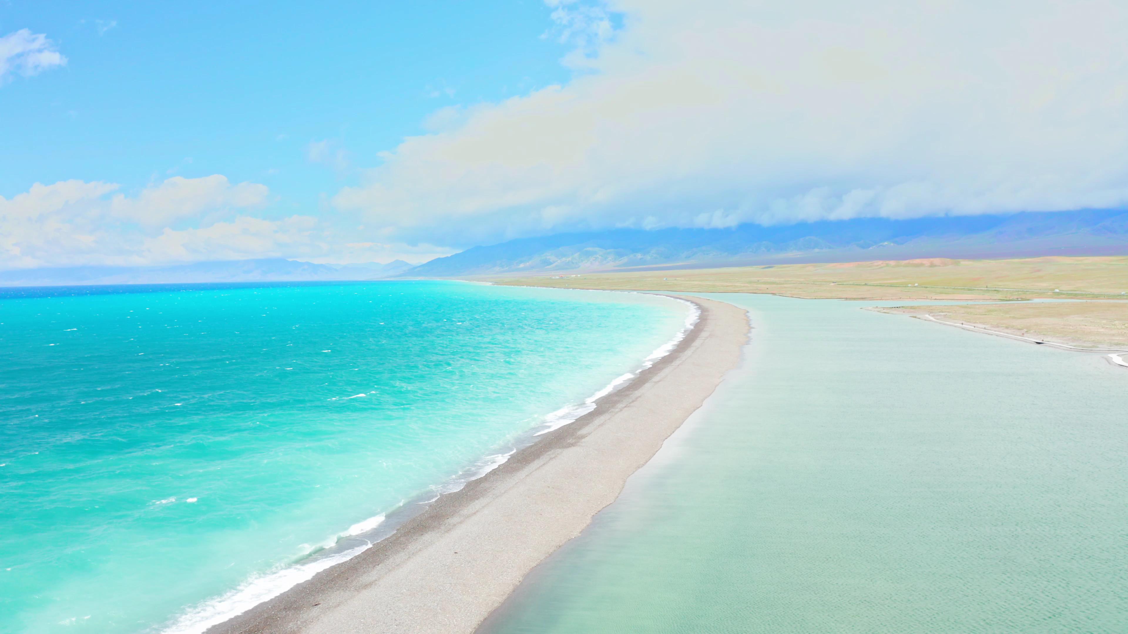
POLYGON ((252 578, 221 597, 199 604, 180 615, 162 634, 203 634, 209 627, 268 601, 294 585, 312 579, 323 570, 351 560, 372 546, 371 543, 328 557, 317 558, 252 578))

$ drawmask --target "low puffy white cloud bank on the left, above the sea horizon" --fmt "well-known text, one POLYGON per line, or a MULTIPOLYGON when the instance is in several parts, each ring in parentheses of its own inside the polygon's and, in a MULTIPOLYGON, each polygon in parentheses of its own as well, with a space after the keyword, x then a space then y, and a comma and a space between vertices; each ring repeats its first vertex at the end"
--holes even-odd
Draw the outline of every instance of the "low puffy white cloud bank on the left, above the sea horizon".
POLYGON ((361 243, 361 228, 344 230, 307 215, 254 215, 267 211, 267 187, 232 184, 221 175, 176 176, 134 195, 120 190, 63 180, 0 196, 0 268, 250 257, 422 262, 450 253, 425 244, 361 243))

